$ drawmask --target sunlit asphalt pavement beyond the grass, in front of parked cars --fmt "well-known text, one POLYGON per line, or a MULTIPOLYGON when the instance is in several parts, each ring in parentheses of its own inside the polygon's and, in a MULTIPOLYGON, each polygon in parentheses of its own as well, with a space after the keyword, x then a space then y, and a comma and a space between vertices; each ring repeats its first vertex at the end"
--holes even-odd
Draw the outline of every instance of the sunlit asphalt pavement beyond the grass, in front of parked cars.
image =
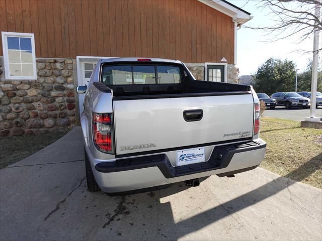
MULTIPOLYGON (((322 117, 322 107, 316 109, 316 117, 322 117)), ((287 109, 284 106, 278 106, 275 109, 266 109, 263 116, 290 119, 292 121, 304 121, 305 117, 310 116, 310 109, 292 108, 287 109)))

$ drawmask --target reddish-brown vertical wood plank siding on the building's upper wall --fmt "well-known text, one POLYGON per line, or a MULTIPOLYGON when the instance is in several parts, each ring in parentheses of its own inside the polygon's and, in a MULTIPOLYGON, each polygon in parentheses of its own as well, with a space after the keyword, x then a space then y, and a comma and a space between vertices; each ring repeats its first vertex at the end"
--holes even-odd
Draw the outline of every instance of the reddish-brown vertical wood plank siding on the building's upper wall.
POLYGON ((0 31, 34 33, 37 57, 234 62, 231 17, 197 0, 0 0, 0 31))

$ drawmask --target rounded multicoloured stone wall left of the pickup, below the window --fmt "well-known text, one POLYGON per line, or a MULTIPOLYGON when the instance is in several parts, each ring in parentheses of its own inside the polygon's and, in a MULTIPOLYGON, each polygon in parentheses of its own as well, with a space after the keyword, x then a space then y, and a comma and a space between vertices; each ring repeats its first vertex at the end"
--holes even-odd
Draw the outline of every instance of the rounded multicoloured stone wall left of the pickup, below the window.
POLYGON ((0 57, 0 136, 65 131, 77 124, 75 60, 36 64, 37 80, 6 80, 0 57))

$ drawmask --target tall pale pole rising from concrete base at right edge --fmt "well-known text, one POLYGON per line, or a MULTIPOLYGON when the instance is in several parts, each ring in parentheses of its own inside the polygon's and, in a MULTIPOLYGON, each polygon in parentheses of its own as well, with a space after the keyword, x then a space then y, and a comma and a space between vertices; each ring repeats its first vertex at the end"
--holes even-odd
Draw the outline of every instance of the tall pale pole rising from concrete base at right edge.
MULTIPOLYGON (((317 0, 321 2, 321 0, 317 0)), ((320 6, 315 4, 315 16, 320 18, 320 6)), ((317 24, 317 23, 316 23, 317 24)), ((312 62, 312 82, 311 82, 311 108, 310 108, 310 117, 305 118, 305 121, 308 122, 320 122, 321 118, 315 116, 315 103, 316 103, 316 87, 317 87, 317 67, 318 67, 318 39, 319 39, 319 30, 314 28, 313 35, 313 62, 312 62)))

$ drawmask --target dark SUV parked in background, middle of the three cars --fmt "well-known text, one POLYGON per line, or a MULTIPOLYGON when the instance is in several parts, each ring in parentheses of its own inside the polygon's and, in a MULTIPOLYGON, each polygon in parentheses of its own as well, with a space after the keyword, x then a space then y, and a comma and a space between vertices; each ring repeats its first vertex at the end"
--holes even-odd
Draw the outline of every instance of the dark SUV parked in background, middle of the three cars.
POLYGON ((288 109, 292 107, 309 108, 310 106, 309 98, 295 92, 277 92, 272 94, 271 97, 276 99, 276 105, 283 105, 288 109))

